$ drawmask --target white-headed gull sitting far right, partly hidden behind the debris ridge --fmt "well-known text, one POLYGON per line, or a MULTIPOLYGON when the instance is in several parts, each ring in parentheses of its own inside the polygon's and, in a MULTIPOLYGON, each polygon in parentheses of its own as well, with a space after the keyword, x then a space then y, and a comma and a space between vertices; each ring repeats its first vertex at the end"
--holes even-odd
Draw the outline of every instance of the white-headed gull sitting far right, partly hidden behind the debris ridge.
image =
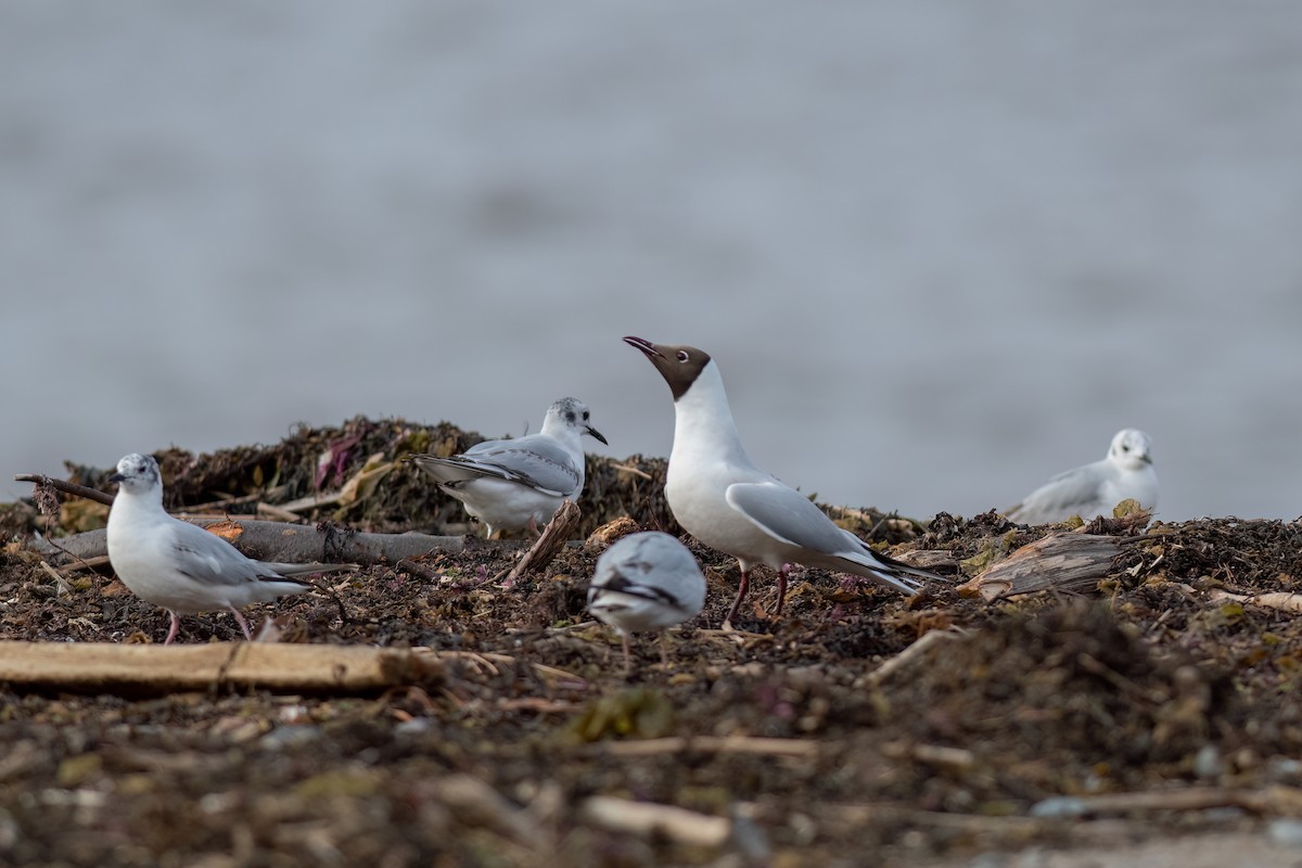
POLYGON ((1157 506, 1152 441, 1135 428, 1118 431, 1103 461, 1059 474, 1004 515, 1019 524, 1051 524, 1073 515, 1088 521, 1112 515, 1112 509, 1128 497, 1148 513, 1157 506))

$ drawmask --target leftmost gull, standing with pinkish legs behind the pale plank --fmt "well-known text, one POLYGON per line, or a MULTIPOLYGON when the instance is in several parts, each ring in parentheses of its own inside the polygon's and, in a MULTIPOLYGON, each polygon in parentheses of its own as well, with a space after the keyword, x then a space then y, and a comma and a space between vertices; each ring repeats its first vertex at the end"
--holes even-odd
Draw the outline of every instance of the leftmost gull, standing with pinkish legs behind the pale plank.
POLYGON ((163 478, 152 455, 124 457, 108 480, 117 483, 117 497, 108 510, 108 560, 132 593, 172 616, 164 645, 176 639, 182 614, 215 609, 229 609, 245 639, 251 640, 242 606, 312 587, 290 575, 352 569, 344 563, 254 561, 220 536, 168 515, 163 478))

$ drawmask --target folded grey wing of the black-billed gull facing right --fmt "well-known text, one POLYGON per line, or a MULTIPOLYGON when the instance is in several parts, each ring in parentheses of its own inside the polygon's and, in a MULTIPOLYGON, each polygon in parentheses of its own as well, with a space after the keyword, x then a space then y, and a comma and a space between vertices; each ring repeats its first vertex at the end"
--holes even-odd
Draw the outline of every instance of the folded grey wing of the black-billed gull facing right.
POLYGON ((570 497, 579 481, 570 453, 542 435, 486 441, 450 458, 413 455, 411 459, 443 483, 496 476, 530 485, 544 495, 570 497))

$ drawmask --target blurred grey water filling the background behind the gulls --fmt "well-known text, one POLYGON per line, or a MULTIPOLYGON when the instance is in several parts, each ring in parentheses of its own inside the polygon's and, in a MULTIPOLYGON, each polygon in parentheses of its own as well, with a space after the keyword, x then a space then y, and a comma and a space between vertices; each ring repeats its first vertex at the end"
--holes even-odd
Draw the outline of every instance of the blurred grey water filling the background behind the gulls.
POLYGON ((1164 518, 1295 517, 1299 43, 1284 0, 5 0, 0 479, 565 394, 665 455, 639 334, 831 502, 1005 506, 1134 426, 1164 518))

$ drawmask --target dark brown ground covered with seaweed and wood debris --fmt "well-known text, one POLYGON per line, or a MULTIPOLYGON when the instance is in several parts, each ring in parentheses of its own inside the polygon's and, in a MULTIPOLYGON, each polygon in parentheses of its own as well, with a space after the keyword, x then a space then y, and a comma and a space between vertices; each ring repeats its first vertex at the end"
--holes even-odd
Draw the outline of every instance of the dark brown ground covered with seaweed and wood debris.
MULTIPOLYGON (((401 458, 474 440, 354 419, 159 458, 173 509, 253 513, 353 481, 305 519, 462 532, 460 506, 401 458)), ((105 491, 109 472, 70 467, 105 491)), ((590 459, 577 539, 621 515, 676 530, 663 474, 659 459, 590 459)), ((1099 521, 1086 530, 1117 541, 1101 579, 987 600, 960 586, 1047 528, 829 513, 953 582, 905 599, 806 570, 775 621, 760 574, 738 631, 721 632, 737 566, 693 544, 706 610, 671 631, 668 669, 643 636, 626 674, 618 636, 585 612, 599 545, 505 582, 523 544, 484 541, 247 610, 281 642, 431 648, 445 668, 426 683, 0 685, 0 864, 1302 864, 1297 523, 1099 521)), ((0 638, 161 642, 167 614, 108 566, 42 565, 26 547, 103 518, 44 493, 0 508, 0 638)), ((186 617, 180 640, 242 635, 212 613, 186 617)))

